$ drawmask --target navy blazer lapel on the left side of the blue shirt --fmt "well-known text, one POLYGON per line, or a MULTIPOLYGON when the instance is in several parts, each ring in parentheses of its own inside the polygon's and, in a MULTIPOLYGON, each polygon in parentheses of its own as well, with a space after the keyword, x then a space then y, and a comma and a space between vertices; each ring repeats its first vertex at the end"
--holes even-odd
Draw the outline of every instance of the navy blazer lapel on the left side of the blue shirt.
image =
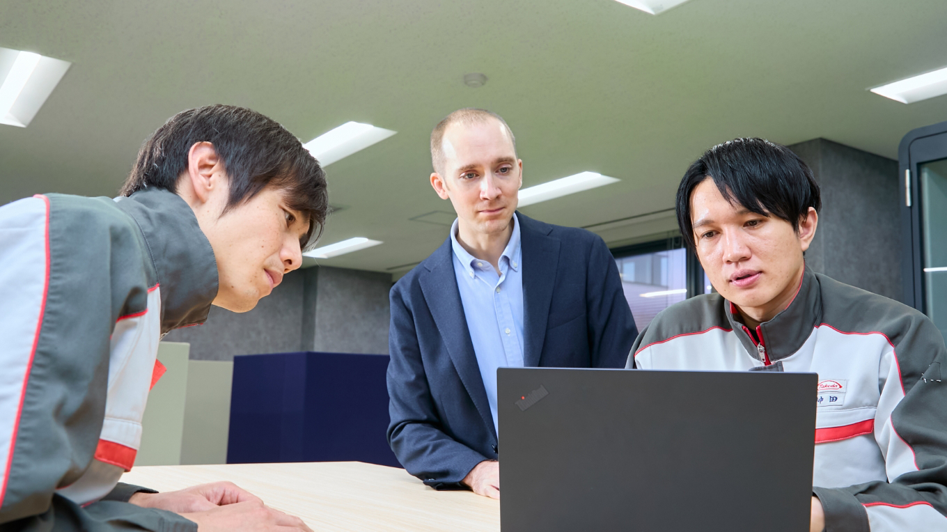
POLYGON ((421 293, 424 294, 424 301, 438 326, 437 334, 443 339, 444 346, 447 346, 447 353, 454 362, 460 381, 492 433, 493 416, 490 412, 490 402, 487 400, 487 390, 483 386, 483 379, 480 378, 480 366, 476 362, 474 343, 471 341, 470 329, 467 328, 460 291, 457 289, 451 239, 448 238, 432 257, 435 260, 427 266, 427 275, 420 277, 421 293))

